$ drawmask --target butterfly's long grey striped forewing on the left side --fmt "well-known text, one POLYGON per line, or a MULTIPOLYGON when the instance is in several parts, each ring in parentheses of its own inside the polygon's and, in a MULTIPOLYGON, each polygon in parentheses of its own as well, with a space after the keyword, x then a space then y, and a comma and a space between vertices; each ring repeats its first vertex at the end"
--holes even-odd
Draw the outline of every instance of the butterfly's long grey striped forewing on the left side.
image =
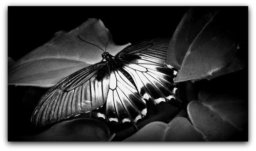
POLYGON ((109 88, 105 66, 104 62, 96 63, 58 82, 42 96, 31 121, 41 126, 98 109, 109 88))

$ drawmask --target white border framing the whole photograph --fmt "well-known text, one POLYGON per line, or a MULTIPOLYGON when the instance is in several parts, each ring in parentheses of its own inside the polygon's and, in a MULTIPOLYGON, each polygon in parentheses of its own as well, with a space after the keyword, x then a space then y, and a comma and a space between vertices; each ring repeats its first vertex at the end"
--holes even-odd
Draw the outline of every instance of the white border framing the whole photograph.
MULTIPOLYGON (((254 1, 256 2, 256 1, 254 1)), ((125 0, 125 1, 103 1, 103 0, 91 0, 91 1, 54 1, 54 0, 40 0, 40 1, 0 1, 0 18, 1 18, 1 51, 0 51, 0 67, 1 67, 1 90, 0 96, 0 106, 1 106, 1 133, 0 133, 0 147, 1 150, 159 150, 159 149, 168 149, 168 150, 255 150, 255 95, 253 95, 253 91, 255 91, 255 65, 256 65, 256 56, 255 56, 255 4, 253 1, 224 1, 224 0, 215 0, 215 1, 140 1, 140 0, 125 0), (107 3, 108 2, 108 3, 107 3), (90 142, 82 142, 82 143, 14 143, 7 142, 7 6, 92 6, 92 5, 100 5, 100 6, 249 6, 249 142, 210 142, 210 143, 184 143, 184 142, 163 142, 163 143, 90 143, 90 142), (254 28, 253 28, 254 27, 254 28), (254 67, 254 68, 253 68, 254 67)), ((171 19, 171 18, 166 18, 171 19)), ((238 82, 243 82, 243 79, 238 79, 238 82)), ((238 88, 243 89, 243 88, 238 88)))

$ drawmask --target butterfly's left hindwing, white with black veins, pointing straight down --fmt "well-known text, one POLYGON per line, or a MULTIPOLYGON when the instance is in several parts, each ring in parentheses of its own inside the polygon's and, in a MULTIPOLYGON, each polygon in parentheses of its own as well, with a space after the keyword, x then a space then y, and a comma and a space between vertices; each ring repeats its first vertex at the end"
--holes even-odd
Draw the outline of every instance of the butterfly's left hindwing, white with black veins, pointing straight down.
POLYGON ((145 101, 135 86, 122 72, 113 71, 110 76, 110 89, 106 100, 106 118, 109 121, 126 122, 146 115, 145 101))

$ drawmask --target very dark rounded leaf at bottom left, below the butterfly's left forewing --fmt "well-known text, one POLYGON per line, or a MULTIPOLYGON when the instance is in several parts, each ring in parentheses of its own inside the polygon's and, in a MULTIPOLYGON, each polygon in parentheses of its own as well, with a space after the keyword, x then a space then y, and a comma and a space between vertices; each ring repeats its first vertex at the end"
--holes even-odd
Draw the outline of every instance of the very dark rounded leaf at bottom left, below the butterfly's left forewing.
POLYGON ((108 126, 87 118, 63 121, 36 136, 23 137, 28 141, 109 141, 111 138, 108 126))

